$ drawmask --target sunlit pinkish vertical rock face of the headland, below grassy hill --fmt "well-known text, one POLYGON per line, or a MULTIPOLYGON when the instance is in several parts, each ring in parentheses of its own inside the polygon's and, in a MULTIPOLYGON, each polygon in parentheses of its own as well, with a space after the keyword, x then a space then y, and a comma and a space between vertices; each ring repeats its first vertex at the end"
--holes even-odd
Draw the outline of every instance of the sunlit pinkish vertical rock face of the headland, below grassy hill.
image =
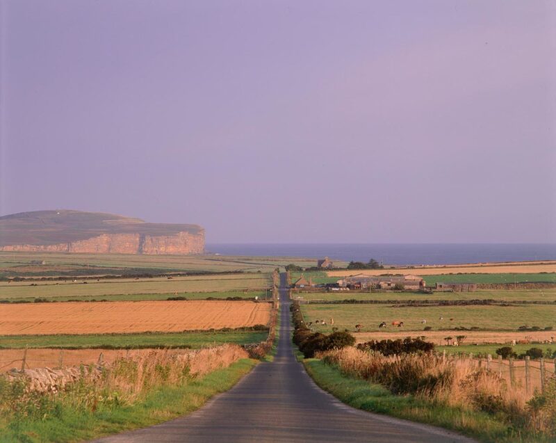
POLYGON ((168 236, 142 234, 101 234, 91 239, 55 245, 6 245, 10 252, 81 252, 85 254, 202 254, 204 232, 179 232, 168 236))

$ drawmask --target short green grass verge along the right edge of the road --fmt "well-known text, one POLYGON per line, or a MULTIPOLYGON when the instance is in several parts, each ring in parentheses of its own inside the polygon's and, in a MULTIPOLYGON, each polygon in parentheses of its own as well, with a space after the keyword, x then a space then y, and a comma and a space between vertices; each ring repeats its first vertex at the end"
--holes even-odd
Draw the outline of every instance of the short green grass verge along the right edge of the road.
POLYGON ((441 426, 481 442, 550 442, 549 437, 543 435, 520 435, 518 430, 486 412, 426 401, 412 395, 395 395, 381 385, 344 376, 336 367, 318 359, 307 359, 303 363, 318 386, 357 409, 441 426))

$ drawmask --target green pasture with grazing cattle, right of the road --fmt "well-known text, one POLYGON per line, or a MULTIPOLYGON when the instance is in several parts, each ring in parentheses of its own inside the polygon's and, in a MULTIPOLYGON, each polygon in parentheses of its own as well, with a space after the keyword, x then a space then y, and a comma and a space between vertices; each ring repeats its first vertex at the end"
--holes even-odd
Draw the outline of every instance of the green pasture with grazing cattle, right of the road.
MULTIPOLYGON (((327 325, 318 325, 319 332, 331 332, 330 318, 339 330, 354 330, 363 325, 362 332, 379 330, 385 321, 403 321, 403 330, 423 331, 423 319, 434 330, 455 327, 477 327, 484 330, 517 330, 521 325, 556 328, 556 305, 520 306, 440 306, 440 307, 392 307, 391 305, 318 305, 301 306, 305 321, 324 319, 327 325), (439 317, 443 317, 443 321, 439 317), (453 318, 453 321, 450 321, 453 318)), ((395 328, 399 330, 398 328, 395 328)), ((393 330, 393 328, 390 328, 393 330)))

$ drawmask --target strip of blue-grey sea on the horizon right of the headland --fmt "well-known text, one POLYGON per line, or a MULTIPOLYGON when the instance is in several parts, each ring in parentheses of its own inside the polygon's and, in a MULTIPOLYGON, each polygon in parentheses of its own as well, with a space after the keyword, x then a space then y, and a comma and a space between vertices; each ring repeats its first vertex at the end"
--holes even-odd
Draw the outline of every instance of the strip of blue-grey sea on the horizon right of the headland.
POLYGON ((213 243, 206 245, 206 250, 221 255, 375 259, 384 264, 410 266, 556 260, 554 243, 213 243))

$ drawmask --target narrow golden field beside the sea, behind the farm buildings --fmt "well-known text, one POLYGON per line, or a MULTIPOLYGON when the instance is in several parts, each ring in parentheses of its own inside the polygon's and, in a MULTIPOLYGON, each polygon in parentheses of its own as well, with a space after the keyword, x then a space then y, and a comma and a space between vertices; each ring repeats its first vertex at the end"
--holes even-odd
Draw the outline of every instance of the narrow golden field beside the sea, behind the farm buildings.
POLYGON ((416 266, 415 268, 392 269, 349 269, 345 271, 328 271, 329 277, 345 277, 347 275, 381 275, 384 273, 442 275, 442 274, 535 274, 556 272, 556 263, 546 264, 485 264, 461 266, 416 266))

